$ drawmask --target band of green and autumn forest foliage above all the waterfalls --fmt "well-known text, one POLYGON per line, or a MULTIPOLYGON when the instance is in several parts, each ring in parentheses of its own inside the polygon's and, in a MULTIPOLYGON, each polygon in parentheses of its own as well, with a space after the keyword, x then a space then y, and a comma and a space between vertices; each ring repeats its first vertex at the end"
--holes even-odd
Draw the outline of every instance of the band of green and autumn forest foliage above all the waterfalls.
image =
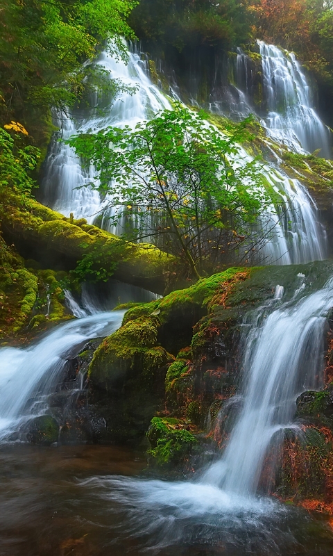
POLYGON ((96 87, 117 95, 123 84, 94 60, 106 44, 126 59, 122 38, 135 35, 178 51, 264 38, 296 51, 333 91, 332 8, 332 0, 3 0, 0 124, 19 121, 41 143, 51 107, 70 108, 96 87))

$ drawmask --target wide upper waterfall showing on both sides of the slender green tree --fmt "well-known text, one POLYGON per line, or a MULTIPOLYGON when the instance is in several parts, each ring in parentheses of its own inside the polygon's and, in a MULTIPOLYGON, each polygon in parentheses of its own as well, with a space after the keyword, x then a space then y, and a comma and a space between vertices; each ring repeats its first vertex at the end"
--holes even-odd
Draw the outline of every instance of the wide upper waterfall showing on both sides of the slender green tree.
MULTIPOLYGON (((139 54, 130 52, 126 65, 105 52, 98 63, 110 71, 113 79, 121 79, 132 87, 137 85, 137 92, 134 95, 123 94, 104 116, 95 113, 93 117, 85 120, 81 117, 75 123, 75 119, 61 115, 63 138, 71 136, 78 129, 96 130, 108 125, 133 127, 162 108, 171 109, 167 98, 149 79, 146 63, 139 54)), ((241 165, 251 160, 251 156, 239 147, 239 154, 231 162, 241 165)), ((258 172, 281 197, 278 210, 272 205, 262 217, 264 240, 260 243, 259 259, 270 264, 325 259, 325 232, 318 223, 316 205, 309 193, 298 180, 289 180, 282 170, 272 165, 262 163, 258 165, 258 172)), ((53 140, 53 148, 46 161, 43 202, 67 216, 73 213, 75 218, 84 217, 88 222, 95 222, 117 233, 117 229, 110 228, 108 219, 110 199, 101 199, 96 190, 85 187, 93 178, 94 168, 84 170, 71 147, 53 140)))

